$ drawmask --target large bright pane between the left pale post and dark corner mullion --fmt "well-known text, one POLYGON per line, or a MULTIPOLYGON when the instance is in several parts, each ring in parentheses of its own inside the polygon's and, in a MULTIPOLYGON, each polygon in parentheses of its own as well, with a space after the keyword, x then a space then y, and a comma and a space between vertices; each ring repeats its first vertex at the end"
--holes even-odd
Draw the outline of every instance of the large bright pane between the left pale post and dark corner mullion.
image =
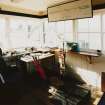
POLYGON ((43 35, 42 23, 11 18, 10 29, 10 42, 12 48, 41 47, 41 36, 43 35))

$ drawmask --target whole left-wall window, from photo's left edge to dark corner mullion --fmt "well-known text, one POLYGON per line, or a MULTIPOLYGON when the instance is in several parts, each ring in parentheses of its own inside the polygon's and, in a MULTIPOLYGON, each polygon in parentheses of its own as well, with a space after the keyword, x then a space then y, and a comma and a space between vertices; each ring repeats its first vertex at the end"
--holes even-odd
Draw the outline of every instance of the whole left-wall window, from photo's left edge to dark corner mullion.
POLYGON ((0 33, 0 47, 3 49, 41 47, 43 44, 43 25, 38 19, 3 15, 0 33))

